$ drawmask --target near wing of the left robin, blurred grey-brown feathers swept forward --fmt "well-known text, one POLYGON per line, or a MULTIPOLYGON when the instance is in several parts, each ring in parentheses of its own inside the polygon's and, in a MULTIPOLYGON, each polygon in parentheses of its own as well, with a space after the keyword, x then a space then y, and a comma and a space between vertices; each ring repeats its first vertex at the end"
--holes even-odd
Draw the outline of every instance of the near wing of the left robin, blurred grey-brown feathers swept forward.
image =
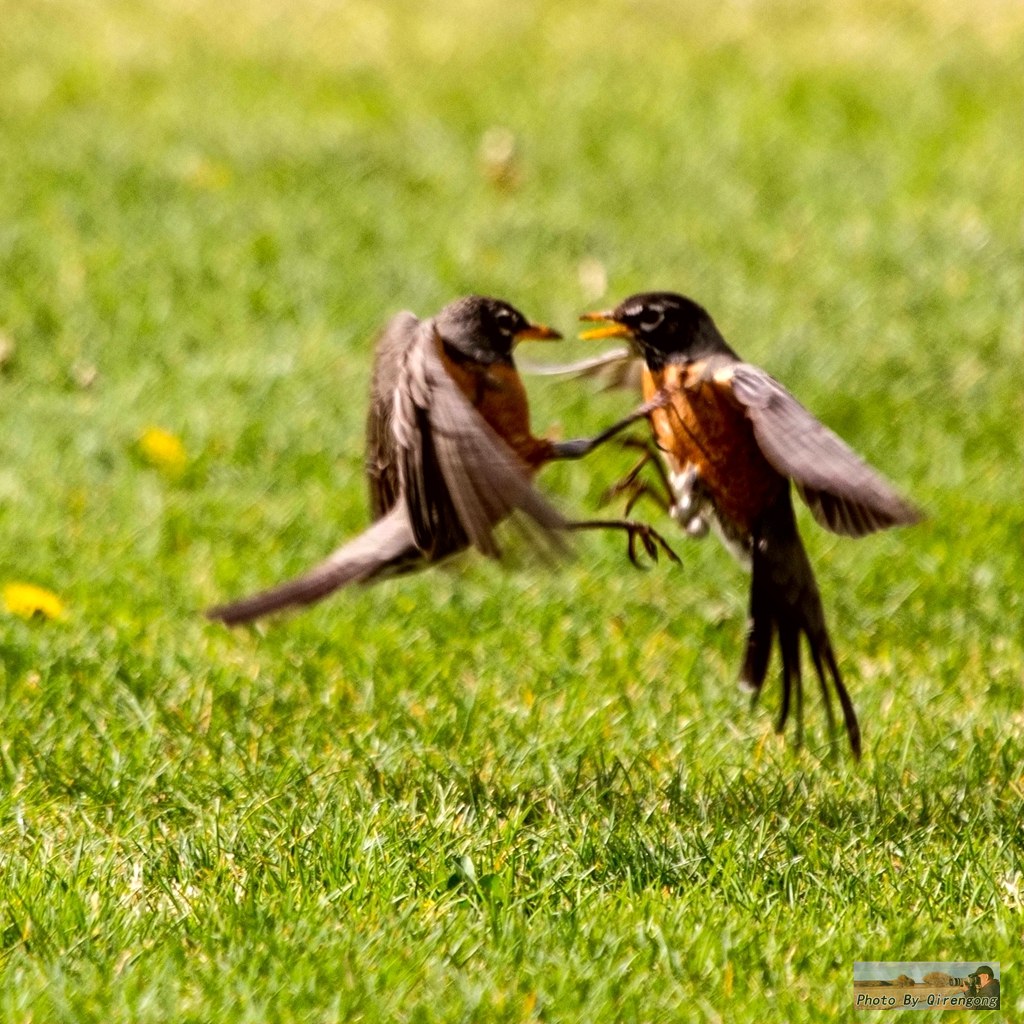
POLYGON ((498 557, 494 528, 524 513, 549 540, 565 519, 449 376, 432 322, 421 324, 394 407, 401 479, 417 544, 432 557, 472 544, 498 557))

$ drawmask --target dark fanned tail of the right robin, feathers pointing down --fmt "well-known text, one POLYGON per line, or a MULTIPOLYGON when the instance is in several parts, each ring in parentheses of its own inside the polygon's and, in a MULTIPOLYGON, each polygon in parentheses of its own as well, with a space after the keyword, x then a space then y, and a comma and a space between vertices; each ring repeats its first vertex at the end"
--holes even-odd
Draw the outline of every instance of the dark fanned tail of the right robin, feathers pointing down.
POLYGON ((807 637, 811 659, 821 684, 829 734, 835 733, 836 728, 828 692, 830 679, 843 709, 850 748, 859 760, 860 725, 857 713, 836 664, 836 654, 825 628, 821 596, 807 552, 797 532, 788 488, 756 526, 752 560, 751 618, 740 682, 754 691, 756 700, 768 674, 772 641, 777 635, 782 657, 782 702, 776 728, 779 732, 785 728, 791 698, 795 697, 797 741, 802 741, 804 688, 800 672, 800 636, 803 634, 807 637))

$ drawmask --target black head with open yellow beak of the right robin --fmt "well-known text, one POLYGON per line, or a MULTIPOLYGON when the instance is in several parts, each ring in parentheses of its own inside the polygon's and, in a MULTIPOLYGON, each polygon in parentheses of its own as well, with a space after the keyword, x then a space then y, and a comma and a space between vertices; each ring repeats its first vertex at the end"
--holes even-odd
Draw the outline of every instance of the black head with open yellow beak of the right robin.
POLYGON ((609 325, 581 337, 628 338, 651 369, 732 350, 703 306, 675 292, 640 292, 604 312, 584 313, 585 321, 609 325))

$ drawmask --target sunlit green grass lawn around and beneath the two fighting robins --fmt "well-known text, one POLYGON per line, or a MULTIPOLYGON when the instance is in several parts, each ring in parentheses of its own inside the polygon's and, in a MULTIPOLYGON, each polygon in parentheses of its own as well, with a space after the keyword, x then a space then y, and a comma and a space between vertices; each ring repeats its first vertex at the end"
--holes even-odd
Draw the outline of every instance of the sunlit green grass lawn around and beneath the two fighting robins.
POLYGON ((68 611, 0 616, 0 1020, 831 1021, 973 956, 1024 1017, 1024 18, 962 7, 5 5, 0 584, 68 611), (389 313, 653 287, 928 510, 801 515, 862 764, 750 713, 713 542, 202 620, 365 523, 389 313))

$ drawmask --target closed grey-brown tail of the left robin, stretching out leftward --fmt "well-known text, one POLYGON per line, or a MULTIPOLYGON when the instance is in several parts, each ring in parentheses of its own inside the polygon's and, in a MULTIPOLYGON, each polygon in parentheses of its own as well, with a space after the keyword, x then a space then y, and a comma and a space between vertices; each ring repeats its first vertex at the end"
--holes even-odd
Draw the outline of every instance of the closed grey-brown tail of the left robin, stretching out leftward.
POLYGON ((308 572, 252 597, 210 608, 206 615, 228 626, 249 623, 282 608, 312 604, 348 584, 408 571, 422 560, 409 516, 399 505, 308 572))

